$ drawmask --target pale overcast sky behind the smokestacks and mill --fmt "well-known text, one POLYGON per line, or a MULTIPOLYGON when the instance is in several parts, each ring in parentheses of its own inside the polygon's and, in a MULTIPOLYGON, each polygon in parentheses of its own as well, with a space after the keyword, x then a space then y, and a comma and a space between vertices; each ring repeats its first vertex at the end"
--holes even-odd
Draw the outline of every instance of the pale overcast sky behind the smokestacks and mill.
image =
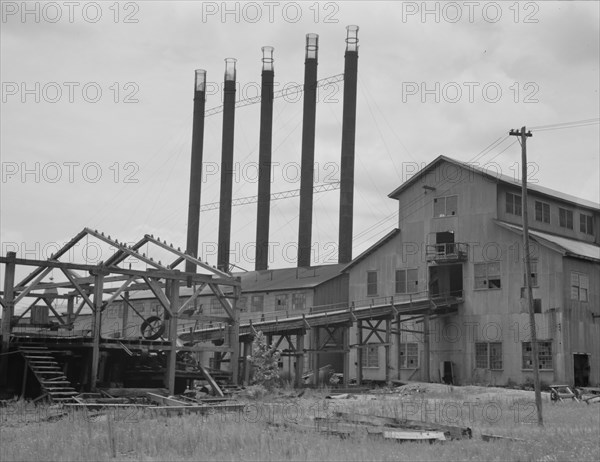
MULTIPOLYGON (((3 255, 47 258, 86 226, 184 248, 194 69, 207 71, 207 108, 221 104, 227 57, 238 60, 238 98, 257 94, 265 45, 276 89, 300 84, 313 32, 319 79, 334 76, 349 24, 360 27, 354 256, 397 226, 387 195, 415 166, 473 160, 523 125, 550 126, 529 138, 532 179, 599 202, 598 2, 24 5, 3 1, 0 24, 3 255), (567 124, 577 121, 588 122, 567 124)), ((319 93, 318 184, 339 179, 342 88, 319 93)), ((259 109, 236 112, 234 198, 257 193, 259 109)), ((298 189, 302 99, 279 98, 274 111, 272 192, 298 189)), ((219 200, 221 123, 206 119, 202 203, 219 200)), ((477 160, 514 176, 516 138, 477 160)), ((298 204, 272 203, 270 267, 295 264, 298 204)), ((338 204, 339 191, 315 195, 314 263, 337 262, 338 204)), ((256 204, 233 211, 231 261, 253 269, 256 204)), ((200 222, 216 264, 218 211, 200 222)))

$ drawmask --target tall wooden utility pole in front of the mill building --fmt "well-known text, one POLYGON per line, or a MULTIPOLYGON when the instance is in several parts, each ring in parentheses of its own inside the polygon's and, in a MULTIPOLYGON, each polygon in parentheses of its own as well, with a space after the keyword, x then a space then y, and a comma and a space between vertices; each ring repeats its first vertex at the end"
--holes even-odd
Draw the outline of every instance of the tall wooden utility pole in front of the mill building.
POLYGON ((535 407, 537 408, 538 425, 544 426, 542 418, 542 393, 540 390, 540 365, 538 357, 537 333, 535 329, 535 312, 533 307, 533 292, 531 290, 531 255, 529 253, 529 221, 527 217, 527 138, 531 132, 521 127, 521 130, 511 130, 510 136, 521 138, 521 209, 523 217, 523 253, 525 262, 525 285, 527 306, 529 308, 529 326, 531 331, 531 355, 533 356, 533 384, 535 389, 535 407))

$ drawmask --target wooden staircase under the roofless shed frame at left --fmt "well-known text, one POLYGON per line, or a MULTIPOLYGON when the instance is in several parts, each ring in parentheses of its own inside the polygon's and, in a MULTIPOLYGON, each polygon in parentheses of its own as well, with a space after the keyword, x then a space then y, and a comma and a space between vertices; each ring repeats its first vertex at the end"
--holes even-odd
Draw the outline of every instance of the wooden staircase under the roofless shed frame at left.
POLYGON ((79 393, 71 386, 58 362, 44 346, 21 346, 19 351, 25 358, 42 387, 42 392, 54 403, 74 403, 79 393))

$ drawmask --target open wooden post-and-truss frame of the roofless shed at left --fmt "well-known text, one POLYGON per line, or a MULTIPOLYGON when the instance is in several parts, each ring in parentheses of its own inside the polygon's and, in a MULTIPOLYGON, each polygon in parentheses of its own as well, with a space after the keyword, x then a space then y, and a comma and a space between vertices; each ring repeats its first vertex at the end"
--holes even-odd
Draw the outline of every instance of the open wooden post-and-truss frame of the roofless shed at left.
MULTIPOLYGON (((158 348, 168 352, 165 386, 169 391, 174 392, 175 362, 178 350, 216 351, 218 348, 220 351, 229 352, 232 378, 234 383, 237 383, 239 310, 236 304, 241 291, 240 278, 234 278, 231 274, 220 271, 152 235, 144 235, 135 244, 127 245, 89 228, 84 228, 47 260, 16 258, 15 252, 8 252, 6 256, 0 256, 0 263, 5 265, 4 290, 0 292, 0 305, 3 313, 0 353, 8 353, 11 337, 14 337, 15 334, 15 327, 36 303, 43 302, 58 321, 59 327, 64 328, 72 328, 82 310, 89 308, 93 314, 91 388, 95 389, 100 348, 103 347, 103 339, 100 335, 103 312, 115 302, 128 303, 130 292, 149 290, 164 309, 165 320, 169 321, 166 333, 167 344, 165 345, 163 342, 163 345, 158 348), (61 261, 61 258, 64 258, 84 238, 96 239, 116 250, 108 259, 98 264, 61 261), (141 253, 142 247, 149 250, 159 249, 163 255, 166 253, 172 259, 171 263, 163 264, 146 253, 141 253), (144 264, 146 269, 131 269, 131 264, 129 268, 125 268, 126 259, 134 259, 134 261, 144 264), (193 272, 178 269, 184 261, 191 264, 194 268, 193 272), (34 267, 34 269, 21 281, 15 283, 17 267, 34 267), (44 281, 54 273, 58 273, 62 281, 44 281), (182 284, 194 287, 192 294, 186 300, 181 298, 180 287, 182 284), (178 341, 177 320, 183 312, 193 306, 194 300, 207 287, 224 308, 226 316, 219 317, 219 320, 228 324, 230 337, 235 340, 222 347, 182 346, 181 341, 178 341), (26 306, 24 312, 19 316, 14 316, 17 304, 23 304, 27 298, 33 299, 33 303, 26 306), (67 300, 66 315, 61 315, 54 305, 56 300, 60 299, 67 300), (77 306, 76 299, 81 300, 77 306)), ((6 368, 7 356, 2 354, 0 356, 0 386, 4 385, 2 381, 6 380, 6 368)))

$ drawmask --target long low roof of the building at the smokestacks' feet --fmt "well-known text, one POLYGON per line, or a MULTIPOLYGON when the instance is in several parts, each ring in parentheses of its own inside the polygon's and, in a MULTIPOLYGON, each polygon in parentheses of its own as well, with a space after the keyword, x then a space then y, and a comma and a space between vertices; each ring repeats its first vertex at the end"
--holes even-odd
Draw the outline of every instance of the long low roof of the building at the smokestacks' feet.
MULTIPOLYGON (((232 276, 242 279, 242 293, 312 289, 337 276, 341 276, 341 270, 344 266, 344 263, 338 263, 307 268, 279 268, 232 273, 232 276)), ((189 296, 193 293, 193 288, 182 286, 179 293, 182 296, 189 296)), ((202 293, 212 294, 212 290, 206 287, 202 293)), ((142 290, 132 293, 130 298, 139 300, 155 297, 151 291, 142 290)))

